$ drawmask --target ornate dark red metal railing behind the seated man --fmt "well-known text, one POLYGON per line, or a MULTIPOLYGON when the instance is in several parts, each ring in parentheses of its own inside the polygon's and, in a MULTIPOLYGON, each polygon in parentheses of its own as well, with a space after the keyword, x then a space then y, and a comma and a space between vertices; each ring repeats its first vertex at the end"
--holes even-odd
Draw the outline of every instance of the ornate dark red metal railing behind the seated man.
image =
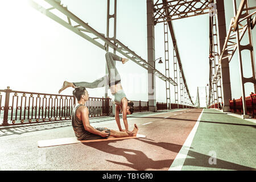
MULTIPOLYGON (((74 96, 22 92, 8 87, 0 90, 0 121, 3 121, 0 126, 69 120, 75 103, 74 96)), ((90 97, 85 106, 89 109, 89 117, 112 112, 110 98, 90 97)))

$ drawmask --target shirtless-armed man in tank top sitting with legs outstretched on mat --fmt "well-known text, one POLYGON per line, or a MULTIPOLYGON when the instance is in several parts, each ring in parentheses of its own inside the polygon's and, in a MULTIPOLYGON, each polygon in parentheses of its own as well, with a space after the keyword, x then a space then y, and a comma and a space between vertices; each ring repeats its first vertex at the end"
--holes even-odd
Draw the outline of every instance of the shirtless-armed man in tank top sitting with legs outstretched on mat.
MULTIPOLYGON (((77 104, 72 111, 72 127, 78 140, 94 140, 111 137, 129 137, 126 131, 115 131, 107 128, 94 128, 90 126, 89 110, 85 102, 89 100, 88 91, 84 87, 75 88, 73 96, 77 98, 77 104)), ((133 136, 136 136, 138 127, 134 124, 133 136)))

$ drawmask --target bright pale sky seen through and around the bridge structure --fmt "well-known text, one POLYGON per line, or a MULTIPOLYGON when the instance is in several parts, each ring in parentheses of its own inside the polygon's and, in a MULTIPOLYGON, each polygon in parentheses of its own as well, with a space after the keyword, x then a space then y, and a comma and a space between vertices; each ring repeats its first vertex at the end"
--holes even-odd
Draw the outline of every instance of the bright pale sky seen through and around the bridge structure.
MULTIPOLYGON (((43 2, 43 0, 36 0, 43 2)), ((68 9, 98 32, 106 34, 106 0, 65 0, 68 9)), ((110 1, 113 3, 113 1, 110 1)), ((237 1, 238 5, 240 1, 237 1)), ((255 3, 256 1, 250 1, 255 3)), ((44 5, 44 3, 40 3, 44 5)), ((255 5, 256 6, 256 3, 255 5)), ((225 1, 226 27, 233 16, 232 0, 225 1)), ((67 28, 39 13, 27 1, 2 1, 0 7, 0 89, 57 94, 64 80, 92 82, 104 76, 105 51, 82 39, 67 28)), ((113 8, 111 9, 111 11, 113 8)), ((54 12, 54 11, 52 11, 54 12)), ((209 82, 209 15, 174 20, 188 89, 196 100, 197 86, 209 82)), ((146 0, 118 0, 117 39, 147 60, 146 0)), ((112 29, 110 29, 110 32, 112 29)), ((110 33, 111 36, 111 33, 110 33)), ((253 43, 256 39, 253 30, 253 43)), ((172 42, 169 36, 170 75, 174 78, 172 42)), ((121 56, 121 55, 119 55, 121 56)), ((155 57, 164 61, 163 23, 155 26, 155 57)), ((245 59, 248 54, 245 53, 245 59)), ((158 62, 158 61, 157 61, 158 62)), ((165 74, 164 64, 156 69, 165 74)), ((133 61, 117 63, 122 86, 129 100, 147 101, 147 71, 133 61)), ((232 98, 241 96, 237 53, 230 62, 232 98)), ((251 76, 248 65, 245 77, 251 76)), ((253 84, 246 84, 246 96, 254 92, 253 84)), ((201 106, 205 106, 205 92, 200 89, 201 106), (202 98, 203 97, 203 98, 202 98)), ((88 89, 90 97, 104 97, 105 88, 88 89)), ((203 89, 204 91, 204 89, 203 89)), ((207 89, 208 91, 208 89, 207 89)), ((68 88, 62 94, 72 94, 68 88)), ((207 93, 209 96, 209 93, 207 93)), ((112 95, 109 91, 109 96, 112 95)), ((171 86, 174 102, 174 86, 171 86)), ((166 102, 166 83, 156 77, 156 102, 166 102)))

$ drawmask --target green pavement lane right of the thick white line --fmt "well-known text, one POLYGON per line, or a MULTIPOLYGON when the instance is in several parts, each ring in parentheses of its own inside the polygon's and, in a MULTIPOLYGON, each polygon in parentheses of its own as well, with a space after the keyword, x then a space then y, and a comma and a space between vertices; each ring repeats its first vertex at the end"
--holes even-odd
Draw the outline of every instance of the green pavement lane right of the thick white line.
POLYGON ((204 109, 181 170, 256 170, 256 124, 204 109))

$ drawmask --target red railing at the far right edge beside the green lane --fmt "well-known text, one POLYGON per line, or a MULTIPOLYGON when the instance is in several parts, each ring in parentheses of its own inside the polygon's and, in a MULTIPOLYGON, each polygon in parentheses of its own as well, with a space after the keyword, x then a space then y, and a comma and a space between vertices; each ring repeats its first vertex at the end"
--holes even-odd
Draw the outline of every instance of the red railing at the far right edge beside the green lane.
MULTIPOLYGON (((242 97, 239 99, 233 99, 229 101, 230 112, 243 114, 242 97)), ((256 94, 251 93, 250 96, 245 97, 246 114, 251 117, 256 117, 256 94)))

